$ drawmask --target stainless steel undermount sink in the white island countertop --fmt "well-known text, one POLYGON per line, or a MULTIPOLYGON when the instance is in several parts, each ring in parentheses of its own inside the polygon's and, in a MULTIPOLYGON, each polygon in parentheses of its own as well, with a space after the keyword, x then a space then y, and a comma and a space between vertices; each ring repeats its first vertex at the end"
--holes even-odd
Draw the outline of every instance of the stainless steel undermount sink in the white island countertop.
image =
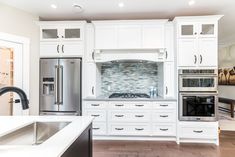
POLYGON ((39 145, 70 122, 34 122, 0 137, 0 145, 39 145))

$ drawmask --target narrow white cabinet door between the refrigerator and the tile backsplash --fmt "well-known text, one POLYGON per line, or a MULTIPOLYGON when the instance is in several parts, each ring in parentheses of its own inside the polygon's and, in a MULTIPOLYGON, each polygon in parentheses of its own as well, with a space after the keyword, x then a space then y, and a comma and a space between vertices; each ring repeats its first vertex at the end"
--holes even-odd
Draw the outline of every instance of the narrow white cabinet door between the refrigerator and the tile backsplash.
POLYGON ((96 74, 97 67, 95 63, 84 63, 85 66, 85 94, 84 97, 96 96, 96 74))

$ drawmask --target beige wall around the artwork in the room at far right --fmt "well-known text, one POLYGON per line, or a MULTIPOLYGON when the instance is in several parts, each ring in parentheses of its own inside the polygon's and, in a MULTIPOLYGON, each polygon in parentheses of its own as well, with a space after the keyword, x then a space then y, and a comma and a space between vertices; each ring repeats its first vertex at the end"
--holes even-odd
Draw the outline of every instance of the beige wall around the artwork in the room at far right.
MULTIPOLYGON (((235 66, 235 44, 222 46, 219 49, 219 68, 231 68, 235 66)), ((219 86, 219 97, 235 99, 235 86, 219 86)), ((228 108, 228 105, 219 104, 228 108)))

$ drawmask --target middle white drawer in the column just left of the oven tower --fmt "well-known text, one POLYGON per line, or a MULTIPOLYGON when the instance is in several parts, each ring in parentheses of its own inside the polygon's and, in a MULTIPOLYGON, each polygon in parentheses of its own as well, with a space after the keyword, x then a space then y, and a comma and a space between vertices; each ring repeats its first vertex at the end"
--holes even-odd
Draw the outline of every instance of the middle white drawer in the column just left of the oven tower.
POLYGON ((154 122, 176 122, 176 111, 153 111, 152 120, 154 122))

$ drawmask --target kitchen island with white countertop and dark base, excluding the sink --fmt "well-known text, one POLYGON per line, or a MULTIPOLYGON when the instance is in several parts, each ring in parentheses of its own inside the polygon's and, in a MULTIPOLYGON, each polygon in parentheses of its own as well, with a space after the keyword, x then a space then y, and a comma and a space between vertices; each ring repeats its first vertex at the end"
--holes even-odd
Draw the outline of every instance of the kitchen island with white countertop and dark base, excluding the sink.
MULTIPOLYGON (((0 117, 0 156, 92 157, 93 118, 86 116, 3 116, 0 117), (1 143, 2 137, 36 123, 68 123, 40 144, 1 143)), ((13 137, 13 136, 11 136, 13 137)), ((4 140, 2 140, 4 141, 4 140)))

